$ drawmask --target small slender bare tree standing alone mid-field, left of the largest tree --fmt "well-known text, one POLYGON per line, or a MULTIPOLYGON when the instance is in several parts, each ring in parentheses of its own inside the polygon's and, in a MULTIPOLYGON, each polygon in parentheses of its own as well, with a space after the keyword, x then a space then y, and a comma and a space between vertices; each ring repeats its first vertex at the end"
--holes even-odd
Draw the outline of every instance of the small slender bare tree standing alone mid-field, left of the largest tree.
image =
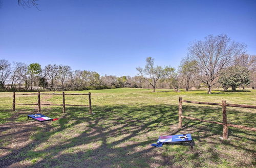
POLYGON ((163 68, 161 66, 154 67, 154 59, 151 57, 146 58, 145 68, 136 68, 139 71, 140 76, 142 76, 150 85, 153 87, 153 92, 155 92, 157 81, 164 75, 163 68))

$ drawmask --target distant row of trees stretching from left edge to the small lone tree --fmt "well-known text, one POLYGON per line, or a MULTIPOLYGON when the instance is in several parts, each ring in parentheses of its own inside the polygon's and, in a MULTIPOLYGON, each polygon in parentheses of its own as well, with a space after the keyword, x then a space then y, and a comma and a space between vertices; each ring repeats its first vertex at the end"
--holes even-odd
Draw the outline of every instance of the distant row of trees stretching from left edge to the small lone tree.
POLYGON ((31 90, 89 90, 122 87, 146 87, 144 80, 130 76, 100 76, 97 72, 74 70, 70 66, 49 64, 44 68, 38 63, 27 65, 0 60, 0 88, 7 91, 31 90))

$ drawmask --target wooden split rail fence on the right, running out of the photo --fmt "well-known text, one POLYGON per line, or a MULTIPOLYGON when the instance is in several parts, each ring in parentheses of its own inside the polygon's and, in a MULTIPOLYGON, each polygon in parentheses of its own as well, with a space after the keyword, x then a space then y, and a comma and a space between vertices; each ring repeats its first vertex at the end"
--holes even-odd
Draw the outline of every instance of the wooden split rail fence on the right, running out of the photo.
POLYGON ((256 108, 256 106, 254 106, 254 105, 229 104, 229 103, 226 102, 226 100, 222 100, 222 103, 210 103, 210 102, 182 100, 182 98, 179 97, 179 128, 182 128, 182 119, 185 118, 185 119, 190 119, 190 120, 198 120, 198 121, 202 121, 202 122, 223 125, 223 139, 228 138, 228 127, 235 127, 235 128, 241 128, 241 129, 256 131, 256 128, 245 127, 245 126, 242 126, 242 125, 227 124, 227 106, 242 107, 242 108, 254 108, 254 109, 256 108), (182 116, 182 102, 222 106, 222 123, 221 122, 216 122, 216 121, 208 121, 208 120, 196 119, 196 118, 193 118, 193 117, 182 116))

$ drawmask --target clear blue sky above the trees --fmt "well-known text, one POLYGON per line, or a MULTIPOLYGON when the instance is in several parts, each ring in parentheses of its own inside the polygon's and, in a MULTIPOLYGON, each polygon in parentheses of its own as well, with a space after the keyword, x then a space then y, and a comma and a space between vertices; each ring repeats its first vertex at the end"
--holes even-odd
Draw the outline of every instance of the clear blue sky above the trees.
POLYGON ((146 57, 178 67, 187 47, 227 34, 256 54, 256 1, 0 0, 0 59, 137 74, 146 57))

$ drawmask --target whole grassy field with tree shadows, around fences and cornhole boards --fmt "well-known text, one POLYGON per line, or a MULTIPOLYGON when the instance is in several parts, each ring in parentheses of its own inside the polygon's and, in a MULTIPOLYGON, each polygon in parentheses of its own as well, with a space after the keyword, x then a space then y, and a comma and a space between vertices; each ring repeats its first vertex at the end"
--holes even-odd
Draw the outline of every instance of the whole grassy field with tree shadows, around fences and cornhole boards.
MULTIPOLYGON (((59 118, 28 120, 36 106, 16 106, 12 93, 0 93, 0 167, 255 167, 255 135, 229 127, 183 120, 178 129, 178 97, 255 105, 256 91, 222 92, 148 89, 91 90, 94 115, 88 108, 42 106, 41 113, 59 118), (191 133, 194 149, 182 145, 152 147, 159 135, 191 133)), ((71 91, 70 93, 88 93, 71 91)), ((19 95, 17 103, 36 103, 37 96, 19 95)), ((42 103, 62 103, 61 95, 41 95, 42 103)), ((67 104, 86 104, 87 96, 66 96, 67 104)), ((221 106, 183 103, 185 116, 222 122, 221 106)), ((255 109, 227 107, 228 123, 255 127, 255 109)))

